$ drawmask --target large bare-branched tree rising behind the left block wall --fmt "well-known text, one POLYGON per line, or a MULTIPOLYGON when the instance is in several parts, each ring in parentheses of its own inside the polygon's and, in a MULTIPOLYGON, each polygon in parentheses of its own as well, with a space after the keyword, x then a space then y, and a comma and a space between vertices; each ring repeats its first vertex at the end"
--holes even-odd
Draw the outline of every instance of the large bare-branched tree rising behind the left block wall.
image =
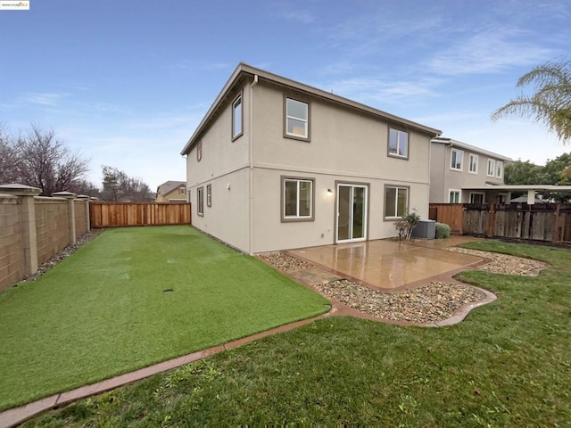
POLYGON ((49 196, 69 191, 84 179, 89 161, 55 137, 53 129, 32 125, 17 137, 0 132, 0 182, 32 185, 49 196))

